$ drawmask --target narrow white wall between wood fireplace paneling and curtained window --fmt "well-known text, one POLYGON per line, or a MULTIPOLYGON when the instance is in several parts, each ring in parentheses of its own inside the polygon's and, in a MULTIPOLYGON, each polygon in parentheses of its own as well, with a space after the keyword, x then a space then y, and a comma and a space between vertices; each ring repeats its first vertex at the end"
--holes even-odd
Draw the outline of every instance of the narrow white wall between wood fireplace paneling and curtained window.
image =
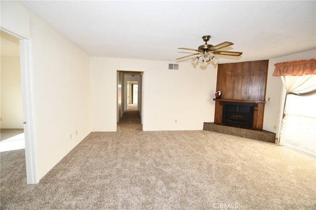
POLYGON ((274 65, 278 62, 310 59, 316 59, 316 50, 296 53, 269 60, 263 129, 276 133, 277 138, 279 138, 279 126, 281 123, 280 119, 282 117, 280 115, 282 114, 282 96, 284 88, 281 78, 272 76, 275 70, 274 65), (270 101, 268 101, 268 97, 270 97, 270 101), (276 126, 276 129, 274 129, 274 126, 276 126))

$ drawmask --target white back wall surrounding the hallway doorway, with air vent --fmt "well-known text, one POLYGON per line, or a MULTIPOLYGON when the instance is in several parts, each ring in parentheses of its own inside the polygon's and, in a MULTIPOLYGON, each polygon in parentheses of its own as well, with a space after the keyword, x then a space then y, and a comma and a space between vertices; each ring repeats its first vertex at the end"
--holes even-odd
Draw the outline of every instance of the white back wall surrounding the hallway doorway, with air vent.
POLYGON ((91 58, 92 131, 116 131, 117 70, 143 71, 143 130, 201 130, 214 121, 217 69, 170 61, 91 58), (177 122, 175 123, 175 120, 177 122))

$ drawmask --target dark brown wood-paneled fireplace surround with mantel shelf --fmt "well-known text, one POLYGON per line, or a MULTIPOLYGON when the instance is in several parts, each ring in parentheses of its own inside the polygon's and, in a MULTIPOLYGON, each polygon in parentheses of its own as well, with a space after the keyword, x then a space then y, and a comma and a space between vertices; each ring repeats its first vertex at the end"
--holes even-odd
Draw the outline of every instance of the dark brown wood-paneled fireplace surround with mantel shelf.
POLYGON ((257 60, 218 65, 216 90, 221 98, 214 98, 216 123, 223 122, 223 102, 253 104, 251 128, 262 129, 265 108, 269 60, 257 60))

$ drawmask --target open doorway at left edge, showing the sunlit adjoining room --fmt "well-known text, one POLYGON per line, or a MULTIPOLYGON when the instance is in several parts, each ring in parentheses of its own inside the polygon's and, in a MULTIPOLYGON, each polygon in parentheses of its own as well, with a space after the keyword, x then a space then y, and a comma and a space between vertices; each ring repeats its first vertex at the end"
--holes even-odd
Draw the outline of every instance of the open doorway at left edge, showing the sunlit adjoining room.
POLYGON ((25 149, 20 40, 0 31, 0 151, 25 149))

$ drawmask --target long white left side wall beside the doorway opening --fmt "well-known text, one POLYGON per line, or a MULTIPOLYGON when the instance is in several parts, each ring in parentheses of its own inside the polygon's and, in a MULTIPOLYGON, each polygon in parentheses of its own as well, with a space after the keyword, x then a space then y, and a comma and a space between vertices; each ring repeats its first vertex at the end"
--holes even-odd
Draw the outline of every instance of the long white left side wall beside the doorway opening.
POLYGON ((1 1, 1 28, 32 39, 41 179, 91 131, 90 57, 17 1, 1 1))

